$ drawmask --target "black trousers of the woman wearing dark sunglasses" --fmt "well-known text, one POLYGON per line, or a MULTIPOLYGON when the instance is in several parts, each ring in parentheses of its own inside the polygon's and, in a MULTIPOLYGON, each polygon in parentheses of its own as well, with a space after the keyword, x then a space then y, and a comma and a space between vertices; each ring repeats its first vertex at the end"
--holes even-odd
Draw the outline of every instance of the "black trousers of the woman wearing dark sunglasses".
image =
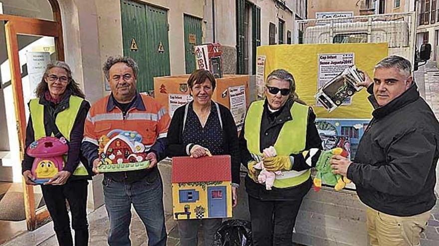
POLYGON ((253 246, 291 246, 302 199, 263 201, 248 196, 253 246))

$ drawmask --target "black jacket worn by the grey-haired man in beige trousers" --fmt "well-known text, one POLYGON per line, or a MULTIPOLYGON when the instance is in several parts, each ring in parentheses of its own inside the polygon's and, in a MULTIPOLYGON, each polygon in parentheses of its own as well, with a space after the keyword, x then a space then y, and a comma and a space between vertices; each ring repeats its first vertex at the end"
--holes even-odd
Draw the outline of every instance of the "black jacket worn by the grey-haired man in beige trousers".
MULTIPOLYGON (((369 89, 368 89, 369 90, 369 89)), ((376 100, 369 97, 373 105, 376 100)), ((367 206, 395 216, 424 213, 436 203, 439 123, 412 86, 377 107, 347 176, 367 206)))

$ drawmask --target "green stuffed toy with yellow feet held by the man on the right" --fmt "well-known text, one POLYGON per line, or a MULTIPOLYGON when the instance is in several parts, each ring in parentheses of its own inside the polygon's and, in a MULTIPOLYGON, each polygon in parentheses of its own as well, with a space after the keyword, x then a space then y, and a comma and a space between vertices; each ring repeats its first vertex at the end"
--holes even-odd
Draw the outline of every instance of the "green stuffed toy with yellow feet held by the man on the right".
POLYGON ((340 174, 332 173, 330 163, 331 158, 335 155, 341 155, 342 152, 343 149, 341 148, 335 148, 329 151, 321 152, 316 164, 317 173, 313 180, 315 191, 320 190, 320 188, 322 187, 322 182, 324 182, 325 184, 334 185, 335 190, 341 190, 346 186, 347 183, 351 182, 351 180, 349 180, 347 177, 344 177, 340 174))

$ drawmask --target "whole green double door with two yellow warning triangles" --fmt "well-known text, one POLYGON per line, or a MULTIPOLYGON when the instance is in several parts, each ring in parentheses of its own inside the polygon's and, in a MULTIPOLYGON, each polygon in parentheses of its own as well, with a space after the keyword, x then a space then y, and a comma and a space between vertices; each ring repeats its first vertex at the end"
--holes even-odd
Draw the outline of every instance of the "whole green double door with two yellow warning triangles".
POLYGON ((154 90, 154 77, 170 75, 168 11, 121 0, 124 56, 139 65, 137 90, 154 90))

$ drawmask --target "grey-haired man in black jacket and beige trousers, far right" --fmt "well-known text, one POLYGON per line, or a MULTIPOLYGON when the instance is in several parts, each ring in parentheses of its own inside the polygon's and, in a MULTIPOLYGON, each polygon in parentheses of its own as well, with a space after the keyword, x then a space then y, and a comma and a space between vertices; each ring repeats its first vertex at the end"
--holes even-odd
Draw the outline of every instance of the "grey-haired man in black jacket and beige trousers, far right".
POLYGON ((411 68, 399 56, 375 66, 373 82, 367 78, 363 84, 373 89, 373 119, 357 156, 353 162, 340 156, 331 160, 334 172, 356 184, 367 206, 371 245, 420 245, 436 204, 439 123, 419 96, 411 68))

